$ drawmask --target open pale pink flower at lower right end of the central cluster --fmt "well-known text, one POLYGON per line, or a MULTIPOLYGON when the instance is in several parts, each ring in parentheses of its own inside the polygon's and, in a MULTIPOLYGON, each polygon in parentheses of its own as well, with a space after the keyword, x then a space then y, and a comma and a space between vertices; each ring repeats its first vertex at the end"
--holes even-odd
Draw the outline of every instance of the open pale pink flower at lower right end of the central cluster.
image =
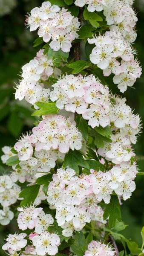
POLYGON ((96 104, 91 104, 89 109, 82 114, 83 118, 89 120, 88 124, 95 128, 95 126, 101 125, 106 127, 109 125, 109 116, 107 115, 105 109, 102 106, 96 104))

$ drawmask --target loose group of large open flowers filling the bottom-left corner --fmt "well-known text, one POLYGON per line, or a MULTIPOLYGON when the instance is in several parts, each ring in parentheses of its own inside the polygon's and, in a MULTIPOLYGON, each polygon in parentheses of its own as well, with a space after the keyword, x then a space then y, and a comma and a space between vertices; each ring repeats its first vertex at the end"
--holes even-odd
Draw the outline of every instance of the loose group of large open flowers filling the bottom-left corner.
MULTIPOLYGON (((32 240, 32 246, 27 246, 22 255, 55 255, 58 253, 58 246, 60 245, 60 238, 54 233, 47 231, 48 227, 53 224, 54 219, 52 215, 45 214, 43 208, 30 207, 19 207, 17 208, 20 214, 17 218, 18 227, 20 230, 33 230, 34 233, 30 233, 29 239, 32 240)), ((6 239, 7 243, 3 245, 3 250, 8 250, 9 255, 18 255, 23 247, 26 246, 27 240, 26 233, 9 235, 6 239), (17 254, 14 254, 17 253, 17 254)))

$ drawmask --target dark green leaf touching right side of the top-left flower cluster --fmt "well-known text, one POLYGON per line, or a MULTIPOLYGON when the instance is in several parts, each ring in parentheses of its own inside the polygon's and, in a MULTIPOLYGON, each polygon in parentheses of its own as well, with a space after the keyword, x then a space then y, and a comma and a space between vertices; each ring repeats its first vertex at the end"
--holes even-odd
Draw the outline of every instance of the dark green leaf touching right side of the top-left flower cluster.
POLYGON ((91 24, 86 24, 78 31, 79 39, 91 38, 95 29, 91 24))

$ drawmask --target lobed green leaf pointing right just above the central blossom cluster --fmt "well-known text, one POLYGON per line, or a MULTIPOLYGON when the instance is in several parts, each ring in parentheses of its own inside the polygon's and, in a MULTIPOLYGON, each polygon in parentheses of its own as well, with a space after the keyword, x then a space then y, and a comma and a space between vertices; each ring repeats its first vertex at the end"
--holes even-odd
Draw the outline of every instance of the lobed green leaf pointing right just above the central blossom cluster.
POLYGON ((66 66, 73 69, 72 74, 78 74, 81 72, 81 70, 84 70, 87 67, 91 66, 91 63, 88 61, 75 61, 75 62, 66 64, 66 66))

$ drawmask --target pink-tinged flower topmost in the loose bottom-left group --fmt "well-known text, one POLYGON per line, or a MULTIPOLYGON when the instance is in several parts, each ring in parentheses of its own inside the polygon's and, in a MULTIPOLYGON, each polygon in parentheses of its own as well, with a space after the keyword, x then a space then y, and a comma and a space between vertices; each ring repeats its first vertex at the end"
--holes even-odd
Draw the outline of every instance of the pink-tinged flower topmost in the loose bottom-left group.
POLYGON ((26 230, 27 228, 33 229, 35 227, 36 218, 40 214, 42 208, 31 207, 19 207, 17 208, 20 211, 17 223, 21 230, 26 230))

